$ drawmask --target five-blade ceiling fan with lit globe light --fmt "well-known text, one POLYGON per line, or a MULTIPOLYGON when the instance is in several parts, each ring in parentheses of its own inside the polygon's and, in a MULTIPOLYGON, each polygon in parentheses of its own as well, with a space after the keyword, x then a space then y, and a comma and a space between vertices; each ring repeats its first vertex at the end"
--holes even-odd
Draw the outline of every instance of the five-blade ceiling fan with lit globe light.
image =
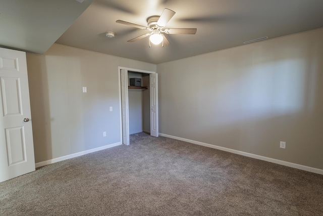
POLYGON ((163 28, 166 26, 166 24, 172 19, 172 17, 175 15, 175 12, 165 8, 163 13, 161 13, 160 16, 151 16, 147 18, 147 25, 142 26, 142 25, 137 25, 134 23, 126 22, 123 20, 117 20, 116 23, 144 29, 150 31, 150 33, 146 33, 143 35, 140 35, 138 37, 135 37, 131 40, 128 40, 128 42, 134 42, 139 39, 142 39, 144 37, 150 36, 149 37, 149 47, 150 47, 150 42, 152 42, 155 45, 160 44, 163 42, 162 47, 170 45, 170 42, 166 38, 165 34, 195 34, 196 33, 196 28, 166 28, 163 30, 163 28))

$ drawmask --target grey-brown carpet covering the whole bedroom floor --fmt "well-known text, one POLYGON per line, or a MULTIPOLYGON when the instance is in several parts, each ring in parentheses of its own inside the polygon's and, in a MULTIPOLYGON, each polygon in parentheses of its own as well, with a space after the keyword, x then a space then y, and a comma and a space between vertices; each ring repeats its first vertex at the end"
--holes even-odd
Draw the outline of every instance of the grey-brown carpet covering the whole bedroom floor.
POLYGON ((145 133, 0 183, 0 215, 323 215, 323 176, 145 133))

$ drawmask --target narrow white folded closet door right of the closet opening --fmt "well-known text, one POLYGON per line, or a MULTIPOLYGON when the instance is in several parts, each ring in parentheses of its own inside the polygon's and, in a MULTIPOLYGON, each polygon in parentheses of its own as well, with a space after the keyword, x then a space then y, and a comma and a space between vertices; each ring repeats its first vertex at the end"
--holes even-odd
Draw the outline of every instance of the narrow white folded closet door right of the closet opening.
POLYGON ((158 74, 149 74, 150 136, 158 137, 158 74))

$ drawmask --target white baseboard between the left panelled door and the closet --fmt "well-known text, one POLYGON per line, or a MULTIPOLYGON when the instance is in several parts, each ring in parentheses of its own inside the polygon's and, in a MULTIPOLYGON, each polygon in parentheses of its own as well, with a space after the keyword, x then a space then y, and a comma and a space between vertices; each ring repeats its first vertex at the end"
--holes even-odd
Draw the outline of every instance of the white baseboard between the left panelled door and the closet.
POLYGON ((120 145, 122 145, 121 142, 113 143, 113 144, 106 145, 106 146, 101 146, 101 147, 98 147, 98 148, 95 148, 95 149, 89 149, 89 150, 86 150, 86 151, 81 151, 81 152, 77 152, 77 153, 74 153, 74 154, 69 154, 69 155, 66 155, 66 156, 57 157, 57 158, 42 161, 42 162, 39 162, 39 163, 35 163, 35 166, 37 168, 37 167, 40 167, 40 166, 48 165, 48 164, 51 164, 51 163, 56 163, 56 162, 67 160, 67 159, 70 159, 70 158, 73 158, 73 157, 78 157, 78 156, 81 156, 81 155, 89 154, 89 153, 100 151, 100 150, 103 150, 103 149, 109 149, 109 148, 112 148, 112 147, 115 147, 115 146, 120 146, 120 145))

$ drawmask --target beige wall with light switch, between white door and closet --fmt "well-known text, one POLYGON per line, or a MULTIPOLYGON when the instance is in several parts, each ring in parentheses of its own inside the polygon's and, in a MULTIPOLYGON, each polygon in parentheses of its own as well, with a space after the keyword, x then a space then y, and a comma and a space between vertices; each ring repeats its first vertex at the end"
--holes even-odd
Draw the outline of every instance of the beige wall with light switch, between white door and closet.
POLYGON ((156 71, 154 64, 56 44, 43 56, 27 54, 36 162, 120 142, 118 66, 156 71))

